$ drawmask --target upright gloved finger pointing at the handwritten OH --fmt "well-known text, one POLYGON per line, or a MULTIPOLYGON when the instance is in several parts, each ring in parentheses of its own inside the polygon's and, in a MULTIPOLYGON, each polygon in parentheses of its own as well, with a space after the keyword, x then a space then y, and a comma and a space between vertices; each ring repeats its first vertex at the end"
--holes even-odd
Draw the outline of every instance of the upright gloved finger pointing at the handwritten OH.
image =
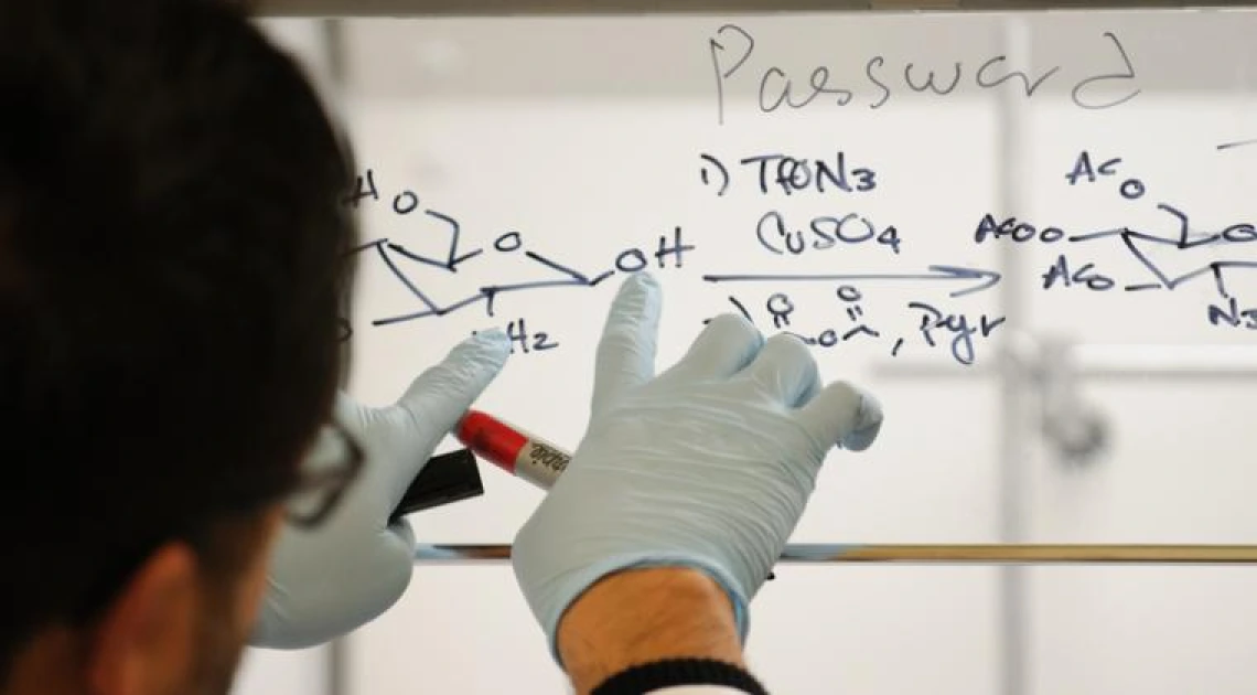
POLYGON ((661 305, 662 292, 647 273, 635 273, 620 285, 598 341, 595 412, 655 376, 661 305))

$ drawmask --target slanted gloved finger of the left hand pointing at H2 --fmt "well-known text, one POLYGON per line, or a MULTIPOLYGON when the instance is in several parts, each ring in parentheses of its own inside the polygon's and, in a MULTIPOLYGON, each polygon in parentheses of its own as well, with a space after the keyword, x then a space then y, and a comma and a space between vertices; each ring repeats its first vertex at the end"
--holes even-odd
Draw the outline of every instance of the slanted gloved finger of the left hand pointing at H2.
MULTIPOLYGON (((415 377, 393 406, 401 408, 406 417, 381 417, 377 426, 402 430, 391 432, 391 436, 415 441, 415 449, 435 447, 498 376, 509 356, 510 339, 500 329, 481 331, 466 338, 445 359, 415 377)), ((397 456, 400 460, 390 460, 385 466, 387 489, 395 505, 427 462, 426 454, 430 451, 412 454, 397 456)))

